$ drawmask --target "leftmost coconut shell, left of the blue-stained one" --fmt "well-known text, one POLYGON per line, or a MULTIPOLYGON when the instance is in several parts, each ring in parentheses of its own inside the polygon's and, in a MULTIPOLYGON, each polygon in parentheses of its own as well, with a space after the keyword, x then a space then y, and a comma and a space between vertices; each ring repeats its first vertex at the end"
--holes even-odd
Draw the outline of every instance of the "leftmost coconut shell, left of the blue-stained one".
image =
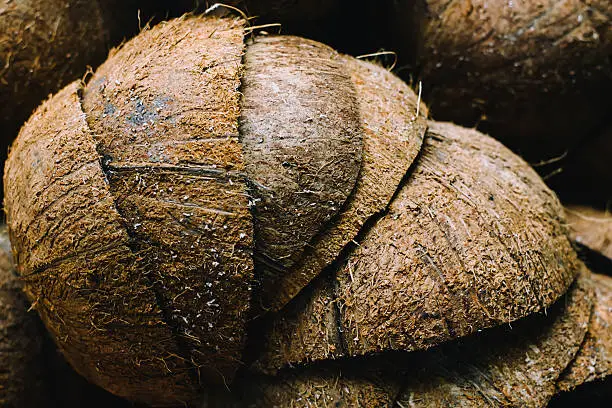
POLYGON ((100 167, 80 91, 75 82, 45 102, 7 162, 5 205, 18 272, 81 375, 134 400, 187 401, 195 394, 190 366, 149 279, 133 268, 137 255, 100 167))

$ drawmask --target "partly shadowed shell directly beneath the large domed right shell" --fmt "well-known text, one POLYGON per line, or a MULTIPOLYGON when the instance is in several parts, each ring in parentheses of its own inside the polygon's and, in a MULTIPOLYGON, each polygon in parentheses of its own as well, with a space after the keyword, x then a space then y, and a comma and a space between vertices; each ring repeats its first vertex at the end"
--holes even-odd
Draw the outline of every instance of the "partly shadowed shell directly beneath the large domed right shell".
POLYGON ((545 407, 582 343, 593 285, 582 272, 547 311, 427 353, 399 398, 410 407, 545 407))

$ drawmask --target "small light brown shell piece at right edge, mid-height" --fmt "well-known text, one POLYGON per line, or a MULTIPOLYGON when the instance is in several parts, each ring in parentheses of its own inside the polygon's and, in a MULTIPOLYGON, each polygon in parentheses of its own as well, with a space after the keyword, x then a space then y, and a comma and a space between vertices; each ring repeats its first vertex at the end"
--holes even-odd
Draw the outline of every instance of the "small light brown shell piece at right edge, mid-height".
POLYGON ((565 216, 572 239, 612 258, 612 215, 591 207, 569 205, 565 216))

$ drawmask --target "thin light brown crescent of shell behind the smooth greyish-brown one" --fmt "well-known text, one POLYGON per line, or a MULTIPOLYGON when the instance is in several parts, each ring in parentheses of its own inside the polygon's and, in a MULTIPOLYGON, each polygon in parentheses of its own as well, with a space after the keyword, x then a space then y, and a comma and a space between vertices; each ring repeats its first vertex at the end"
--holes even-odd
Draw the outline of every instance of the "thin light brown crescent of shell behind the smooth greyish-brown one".
MULTIPOLYGON (((248 50, 247 57, 252 46, 248 50)), ((299 261, 276 281, 264 283, 262 301, 276 310, 337 259, 368 220, 387 208, 420 151, 425 134, 427 108, 421 105, 417 109, 417 95, 404 82, 381 66, 337 54, 333 57, 350 75, 356 91, 358 120, 363 132, 361 171, 345 205, 337 209, 337 216, 326 223, 325 230, 305 246, 299 261), (420 112, 418 116, 417 112, 420 112)), ((245 99, 247 96, 245 90, 245 99)), ((329 159, 338 159, 338 154, 336 152, 329 159)), ((342 164, 331 170, 338 172, 345 166, 342 164)), ((256 210, 256 225, 259 215, 256 210)), ((273 225, 279 218, 275 217, 268 224, 273 225)))

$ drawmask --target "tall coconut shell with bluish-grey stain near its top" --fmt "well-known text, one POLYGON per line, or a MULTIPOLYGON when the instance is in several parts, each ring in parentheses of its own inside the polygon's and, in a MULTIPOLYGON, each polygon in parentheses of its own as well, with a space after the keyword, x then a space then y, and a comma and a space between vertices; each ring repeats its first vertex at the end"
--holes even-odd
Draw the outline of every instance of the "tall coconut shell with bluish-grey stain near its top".
POLYGON ((186 17, 127 43, 83 107, 117 211, 198 381, 237 370, 253 279, 238 138, 243 22, 186 17))

